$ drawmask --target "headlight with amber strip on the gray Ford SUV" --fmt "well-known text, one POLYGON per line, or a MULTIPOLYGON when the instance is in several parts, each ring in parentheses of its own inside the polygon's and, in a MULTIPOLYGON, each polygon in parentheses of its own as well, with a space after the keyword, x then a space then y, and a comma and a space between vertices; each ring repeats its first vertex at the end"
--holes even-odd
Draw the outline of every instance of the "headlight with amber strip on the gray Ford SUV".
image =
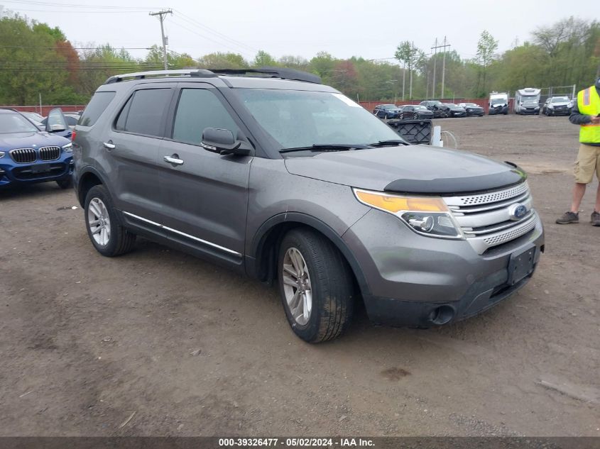
POLYGON ((400 218, 410 229, 438 238, 463 238, 444 200, 439 196, 401 196, 354 189, 362 204, 400 218))

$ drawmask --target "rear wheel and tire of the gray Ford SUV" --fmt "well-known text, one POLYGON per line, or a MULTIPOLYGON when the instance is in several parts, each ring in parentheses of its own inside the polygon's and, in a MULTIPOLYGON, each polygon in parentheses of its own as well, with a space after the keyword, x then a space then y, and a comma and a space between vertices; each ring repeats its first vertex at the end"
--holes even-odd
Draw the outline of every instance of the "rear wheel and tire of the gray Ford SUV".
POLYGON ((133 249, 136 235, 121 226, 109 192, 102 184, 87 192, 84 215, 87 235, 98 253, 114 257, 133 249))

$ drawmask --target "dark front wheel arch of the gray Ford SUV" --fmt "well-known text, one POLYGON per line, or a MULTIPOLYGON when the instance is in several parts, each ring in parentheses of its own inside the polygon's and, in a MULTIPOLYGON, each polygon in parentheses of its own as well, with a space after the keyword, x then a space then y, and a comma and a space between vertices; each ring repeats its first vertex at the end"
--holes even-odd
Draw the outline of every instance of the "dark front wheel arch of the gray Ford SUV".
POLYGON ((246 256, 246 272, 264 282, 272 283, 277 277, 277 249, 285 233, 293 228, 310 228, 322 234, 339 250, 348 262, 361 293, 369 294, 369 284, 359 261, 342 237, 327 223, 300 212, 287 212, 268 219, 258 228, 246 256))

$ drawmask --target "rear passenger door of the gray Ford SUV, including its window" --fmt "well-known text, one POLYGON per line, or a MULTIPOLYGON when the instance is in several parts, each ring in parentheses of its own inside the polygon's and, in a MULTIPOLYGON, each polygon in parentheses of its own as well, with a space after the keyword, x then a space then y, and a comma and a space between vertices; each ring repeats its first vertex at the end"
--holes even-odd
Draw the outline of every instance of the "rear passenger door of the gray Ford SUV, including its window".
POLYGON ((138 86, 102 140, 116 207, 152 221, 160 216, 158 149, 175 85, 138 86))

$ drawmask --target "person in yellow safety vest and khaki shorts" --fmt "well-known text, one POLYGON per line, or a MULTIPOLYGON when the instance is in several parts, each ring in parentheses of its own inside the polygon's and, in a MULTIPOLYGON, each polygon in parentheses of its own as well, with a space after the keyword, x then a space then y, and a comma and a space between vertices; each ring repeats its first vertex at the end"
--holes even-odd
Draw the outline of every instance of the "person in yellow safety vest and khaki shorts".
MULTIPOLYGON (((585 187, 596 178, 600 180, 600 77, 594 86, 577 94, 577 103, 573 105, 569 121, 579 125, 579 153, 575 161, 575 187, 571 210, 557 219, 558 224, 579 223, 579 206, 585 193, 585 187)), ((600 183, 596 192, 596 206, 591 213, 591 224, 600 226, 600 183)))

